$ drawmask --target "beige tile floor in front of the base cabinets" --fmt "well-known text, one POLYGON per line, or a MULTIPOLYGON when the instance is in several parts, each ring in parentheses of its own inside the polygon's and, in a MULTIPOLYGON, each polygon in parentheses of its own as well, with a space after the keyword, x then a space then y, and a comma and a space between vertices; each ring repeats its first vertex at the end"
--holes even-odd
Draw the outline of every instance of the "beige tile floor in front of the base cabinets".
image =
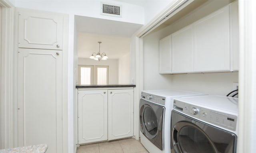
POLYGON ((81 145, 77 153, 148 153, 140 141, 133 138, 90 145, 81 145))

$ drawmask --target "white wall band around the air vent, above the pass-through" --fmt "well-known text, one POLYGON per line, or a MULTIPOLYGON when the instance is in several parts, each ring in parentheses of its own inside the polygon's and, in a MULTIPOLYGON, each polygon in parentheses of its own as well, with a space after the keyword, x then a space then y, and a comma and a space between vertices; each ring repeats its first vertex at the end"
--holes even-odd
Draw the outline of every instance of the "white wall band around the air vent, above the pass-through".
POLYGON ((122 5, 122 18, 100 15, 101 0, 10 0, 10 2, 20 8, 144 24, 143 7, 111 0, 103 0, 103 2, 122 5))

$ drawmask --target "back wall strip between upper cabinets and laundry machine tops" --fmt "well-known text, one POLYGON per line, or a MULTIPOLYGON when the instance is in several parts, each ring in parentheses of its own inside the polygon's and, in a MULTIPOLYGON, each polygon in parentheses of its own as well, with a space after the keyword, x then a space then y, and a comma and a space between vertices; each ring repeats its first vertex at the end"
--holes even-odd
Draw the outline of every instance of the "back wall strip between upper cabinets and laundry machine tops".
POLYGON ((233 82, 238 82, 238 72, 172 75, 170 82, 172 89, 226 96, 233 90, 233 82))

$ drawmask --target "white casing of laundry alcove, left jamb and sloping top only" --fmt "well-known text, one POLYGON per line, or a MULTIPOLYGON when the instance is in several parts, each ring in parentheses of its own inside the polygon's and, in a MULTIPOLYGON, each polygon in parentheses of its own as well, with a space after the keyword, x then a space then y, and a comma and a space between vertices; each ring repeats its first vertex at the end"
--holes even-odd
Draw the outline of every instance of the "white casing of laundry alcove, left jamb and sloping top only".
POLYGON ((139 104, 140 95, 143 90, 143 37, 156 29, 166 20, 171 18, 176 12, 189 5, 194 0, 175 0, 171 2, 164 10, 162 10, 151 22, 143 26, 137 31, 133 38, 135 42, 135 80, 136 88, 134 88, 134 136, 140 139, 140 120, 139 120, 139 104))

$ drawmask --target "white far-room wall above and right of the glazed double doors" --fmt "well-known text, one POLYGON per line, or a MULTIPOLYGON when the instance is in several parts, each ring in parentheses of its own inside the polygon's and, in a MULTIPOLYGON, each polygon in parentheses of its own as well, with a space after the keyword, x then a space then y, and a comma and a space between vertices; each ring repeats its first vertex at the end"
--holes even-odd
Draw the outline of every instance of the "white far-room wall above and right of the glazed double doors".
POLYGON ((96 61, 89 58, 78 58, 78 65, 108 65, 108 84, 118 84, 118 59, 96 61))

